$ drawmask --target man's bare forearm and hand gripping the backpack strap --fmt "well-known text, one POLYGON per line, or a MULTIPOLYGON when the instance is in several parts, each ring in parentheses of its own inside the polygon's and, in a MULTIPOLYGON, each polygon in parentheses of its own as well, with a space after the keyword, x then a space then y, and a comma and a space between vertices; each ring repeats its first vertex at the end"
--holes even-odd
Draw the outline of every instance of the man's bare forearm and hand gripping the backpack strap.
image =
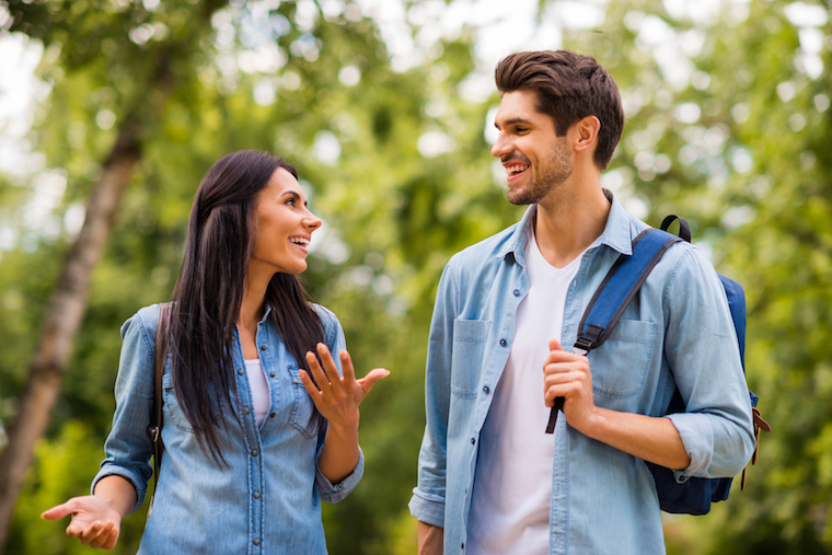
POLYGON ((589 359, 563 350, 556 339, 548 342, 543 366, 546 406, 565 397, 564 415, 569 425, 587 437, 645 461, 683 470, 691 458, 669 418, 623 413, 599 407, 592 395, 589 359))

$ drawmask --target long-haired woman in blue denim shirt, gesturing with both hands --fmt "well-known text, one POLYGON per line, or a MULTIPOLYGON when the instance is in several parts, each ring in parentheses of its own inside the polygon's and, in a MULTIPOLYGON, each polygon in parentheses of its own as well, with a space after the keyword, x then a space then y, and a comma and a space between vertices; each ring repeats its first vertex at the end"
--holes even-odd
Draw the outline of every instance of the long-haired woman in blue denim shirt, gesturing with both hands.
MULTIPOLYGON (((360 481, 358 406, 389 372, 356 380, 337 319, 305 300, 297 275, 320 226, 279 158, 229 154, 199 185, 162 377, 165 452, 139 553, 326 553, 320 500, 339 501, 360 481)), ((43 514, 72 514, 67 534, 93 547, 115 545, 152 474, 158 315, 146 307, 122 328, 93 495, 43 514)))

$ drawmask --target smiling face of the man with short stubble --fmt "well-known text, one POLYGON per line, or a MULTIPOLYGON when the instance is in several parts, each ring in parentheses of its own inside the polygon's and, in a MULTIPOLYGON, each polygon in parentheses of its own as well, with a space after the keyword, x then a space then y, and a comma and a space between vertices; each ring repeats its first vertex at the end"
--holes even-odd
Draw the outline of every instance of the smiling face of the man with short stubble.
POLYGON ((535 100, 533 91, 507 92, 494 118, 499 136, 492 154, 506 169, 506 197, 515 205, 541 201, 573 173, 566 137, 558 137, 552 118, 535 109, 535 100))

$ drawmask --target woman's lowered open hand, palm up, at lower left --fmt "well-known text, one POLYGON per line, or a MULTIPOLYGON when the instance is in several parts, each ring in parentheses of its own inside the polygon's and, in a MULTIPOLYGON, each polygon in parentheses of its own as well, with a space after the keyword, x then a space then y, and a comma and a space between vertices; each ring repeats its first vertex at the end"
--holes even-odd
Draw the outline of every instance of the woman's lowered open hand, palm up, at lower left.
POLYGON ((65 504, 45 510, 42 519, 59 520, 72 514, 67 527, 69 537, 90 547, 112 550, 122 530, 122 514, 111 505, 94 495, 73 497, 65 504))

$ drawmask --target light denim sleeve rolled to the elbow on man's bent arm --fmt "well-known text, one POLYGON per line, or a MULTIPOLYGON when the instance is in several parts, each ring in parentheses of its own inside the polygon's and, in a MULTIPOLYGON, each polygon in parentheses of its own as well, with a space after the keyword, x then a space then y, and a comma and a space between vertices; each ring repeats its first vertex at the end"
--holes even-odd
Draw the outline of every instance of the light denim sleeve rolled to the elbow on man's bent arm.
POLYGON ((665 355, 686 406, 668 418, 691 458, 677 481, 736 476, 754 450, 751 402, 725 291, 698 250, 680 257, 663 303, 665 355))

